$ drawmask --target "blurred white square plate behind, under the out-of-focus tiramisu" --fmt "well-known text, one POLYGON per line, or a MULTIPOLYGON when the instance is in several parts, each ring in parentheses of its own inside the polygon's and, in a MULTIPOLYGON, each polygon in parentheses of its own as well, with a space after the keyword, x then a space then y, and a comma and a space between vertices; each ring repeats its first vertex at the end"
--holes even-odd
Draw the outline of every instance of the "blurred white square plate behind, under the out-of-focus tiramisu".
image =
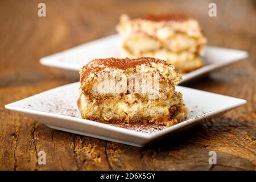
MULTIPOLYGON (((105 38, 94 40, 89 43, 56 53, 51 56, 43 57, 40 63, 48 67, 61 69, 67 75, 79 76, 79 69, 95 58, 106 58, 119 55, 119 35, 111 35, 105 38)), ((248 56, 246 51, 236 49, 205 46, 204 67, 196 69, 183 75, 185 82, 198 77, 214 69, 224 67, 248 56)))

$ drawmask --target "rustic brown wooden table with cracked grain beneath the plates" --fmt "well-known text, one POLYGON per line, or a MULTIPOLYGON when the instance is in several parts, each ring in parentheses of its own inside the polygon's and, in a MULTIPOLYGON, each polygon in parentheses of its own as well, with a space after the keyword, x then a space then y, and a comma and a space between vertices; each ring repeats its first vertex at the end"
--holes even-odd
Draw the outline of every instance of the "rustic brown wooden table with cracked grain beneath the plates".
MULTIPOLYGON (((0 2, 0 169, 97 170, 256 169, 255 1, 41 1, 0 2), (4 105, 76 80, 39 64, 40 57, 115 33, 119 15, 186 13, 201 22, 208 44, 243 49, 248 59, 185 86, 244 98, 245 106, 148 147, 137 148, 49 129, 4 105), (46 151, 46 165, 37 152, 46 151), (217 165, 209 165, 209 151, 217 165)), ((99 50, 100 51, 100 50, 99 50)), ((207 103, 205 103, 207 104, 207 103)))

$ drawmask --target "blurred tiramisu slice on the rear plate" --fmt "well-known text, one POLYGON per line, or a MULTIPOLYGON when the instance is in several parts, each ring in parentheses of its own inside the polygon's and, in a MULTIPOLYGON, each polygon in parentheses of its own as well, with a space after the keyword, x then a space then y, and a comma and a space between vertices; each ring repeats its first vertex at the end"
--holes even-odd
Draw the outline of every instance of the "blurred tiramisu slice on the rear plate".
POLYGON ((203 66, 200 55, 207 42, 200 24, 185 15, 149 15, 131 19, 122 15, 117 26, 122 56, 167 60, 179 73, 203 66))

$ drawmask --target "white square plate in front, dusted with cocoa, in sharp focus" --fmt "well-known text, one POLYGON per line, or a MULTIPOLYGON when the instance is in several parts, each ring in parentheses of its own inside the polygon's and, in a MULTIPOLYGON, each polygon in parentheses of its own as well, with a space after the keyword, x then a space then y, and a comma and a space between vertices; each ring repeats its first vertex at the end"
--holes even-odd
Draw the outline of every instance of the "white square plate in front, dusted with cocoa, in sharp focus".
POLYGON ((109 125, 82 119, 77 108, 79 82, 60 86, 13 102, 6 109, 24 113, 27 117, 42 122, 57 130, 63 130, 89 137, 143 147, 177 131, 186 130, 202 119, 244 105, 245 100, 222 96, 220 94, 176 86, 183 94, 185 105, 189 109, 186 121, 171 127, 143 125, 109 125))

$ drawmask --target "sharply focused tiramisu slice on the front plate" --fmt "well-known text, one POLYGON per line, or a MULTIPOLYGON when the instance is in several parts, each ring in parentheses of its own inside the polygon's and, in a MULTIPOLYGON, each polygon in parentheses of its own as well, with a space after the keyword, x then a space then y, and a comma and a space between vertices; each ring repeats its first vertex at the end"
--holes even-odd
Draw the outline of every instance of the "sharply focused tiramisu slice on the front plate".
POLYGON ((95 59, 80 69, 82 118, 103 123, 172 126, 188 112, 175 92, 181 75, 173 65, 150 57, 95 59))

